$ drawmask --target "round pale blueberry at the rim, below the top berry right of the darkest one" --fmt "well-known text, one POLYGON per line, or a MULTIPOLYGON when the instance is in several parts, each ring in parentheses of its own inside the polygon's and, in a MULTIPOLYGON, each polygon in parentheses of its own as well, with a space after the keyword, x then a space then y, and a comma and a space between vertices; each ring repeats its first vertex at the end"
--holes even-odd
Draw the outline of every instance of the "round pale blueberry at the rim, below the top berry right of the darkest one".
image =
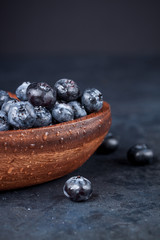
POLYGON ((74 111, 68 104, 60 103, 52 109, 52 116, 56 122, 68 122, 74 119, 74 111))

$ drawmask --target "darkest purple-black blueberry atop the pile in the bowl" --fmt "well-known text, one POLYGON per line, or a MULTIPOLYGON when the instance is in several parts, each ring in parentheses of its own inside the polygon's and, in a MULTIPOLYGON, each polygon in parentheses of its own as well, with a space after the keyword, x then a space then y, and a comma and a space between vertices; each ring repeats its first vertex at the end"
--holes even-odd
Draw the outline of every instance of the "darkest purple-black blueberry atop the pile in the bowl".
POLYGON ((47 83, 31 83, 27 88, 28 101, 33 106, 52 108, 56 102, 56 90, 47 83))

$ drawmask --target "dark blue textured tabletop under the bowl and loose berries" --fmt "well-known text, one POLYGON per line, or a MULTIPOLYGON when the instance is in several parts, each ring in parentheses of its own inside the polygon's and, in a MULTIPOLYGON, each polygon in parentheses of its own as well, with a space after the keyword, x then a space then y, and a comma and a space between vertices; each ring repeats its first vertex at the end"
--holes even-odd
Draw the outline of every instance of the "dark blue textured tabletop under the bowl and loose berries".
POLYGON ((111 131, 119 149, 94 154, 80 169, 61 179, 0 193, 0 239, 153 239, 160 238, 160 58, 48 57, 1 58, 0 88, 15 91, 22 81, 62 77, 82 89, 97 87, 111 104, 111 131), (154 164, 133 167, 126 152, 150 145, 154 164), (88 178, 93 197, 83 203, 62 192, 74 175, 88 178))

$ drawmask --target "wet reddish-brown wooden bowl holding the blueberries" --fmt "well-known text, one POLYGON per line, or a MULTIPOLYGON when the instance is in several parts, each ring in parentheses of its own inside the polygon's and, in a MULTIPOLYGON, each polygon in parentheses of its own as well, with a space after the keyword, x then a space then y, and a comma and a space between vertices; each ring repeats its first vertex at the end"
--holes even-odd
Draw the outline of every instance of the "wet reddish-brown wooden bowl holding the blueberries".
POLYGON ((79 168, 111 126, 107 102, 83 118, 43 128, 0 132, 0 190, 62 177, 79 168))

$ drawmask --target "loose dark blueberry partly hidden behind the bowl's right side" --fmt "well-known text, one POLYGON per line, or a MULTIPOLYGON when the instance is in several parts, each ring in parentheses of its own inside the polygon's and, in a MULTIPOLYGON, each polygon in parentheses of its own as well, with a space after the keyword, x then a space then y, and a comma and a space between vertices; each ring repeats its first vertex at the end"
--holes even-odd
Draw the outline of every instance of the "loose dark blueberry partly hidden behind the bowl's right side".
POLYGON ((97 149, 96 153, 98 154, 109 154, 114 152, 119 145, 119 141, 117 138, 115 138, 112 133, 108 133, 108 135, 105 137, 102 144, 97 149))

